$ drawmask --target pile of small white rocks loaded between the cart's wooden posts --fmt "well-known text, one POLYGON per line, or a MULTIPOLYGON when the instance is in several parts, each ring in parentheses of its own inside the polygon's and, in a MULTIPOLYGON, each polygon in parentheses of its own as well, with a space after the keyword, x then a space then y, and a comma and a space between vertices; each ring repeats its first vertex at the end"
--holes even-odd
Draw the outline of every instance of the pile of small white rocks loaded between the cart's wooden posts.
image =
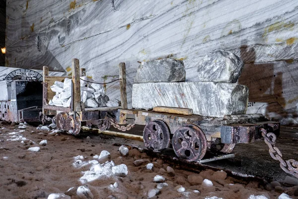
MULTIPOLYGON (((72 79, 65 78, 64 82, 55 81, 51 86, 51 90, 56 93, 49 105, 69 107, 72 101, 72 79)), ((80 77, 80 96, 81 101, 86 107, 103 107, 103 106, 119 106, 120 101, 117 99, 110 100, 105 95, 104 88, 96 84, 94 80, 87 77, 80 77), (94 82, 88 83, 87 82, 94 82)))

